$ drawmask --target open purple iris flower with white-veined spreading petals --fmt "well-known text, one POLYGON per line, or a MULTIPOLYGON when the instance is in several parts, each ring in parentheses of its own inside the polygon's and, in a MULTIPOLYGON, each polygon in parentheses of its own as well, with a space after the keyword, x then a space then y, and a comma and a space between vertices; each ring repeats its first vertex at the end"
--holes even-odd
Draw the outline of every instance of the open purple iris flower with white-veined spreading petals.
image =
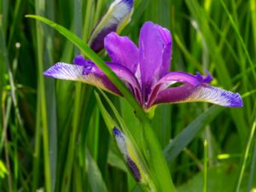
MULTIPOLYGON (((137 102, 148 110, 161 103, 212 102, 224 107, 242 107, 241 96, 209 83, 212 76, 183 72, 169 72, 172 57, 171 33, 150 21, 144 23, 139 45, 130 38, 111 32, 104 39, 105 49, 111 58, 106 62, 137 102), (182 83, 179 86, 173 86, 182 83)), ((50 67, 44 75, 55 79, 81 81, 122 96, 102 70, 92 61, 77 55, 72 64, 63 62, 50 67)))

